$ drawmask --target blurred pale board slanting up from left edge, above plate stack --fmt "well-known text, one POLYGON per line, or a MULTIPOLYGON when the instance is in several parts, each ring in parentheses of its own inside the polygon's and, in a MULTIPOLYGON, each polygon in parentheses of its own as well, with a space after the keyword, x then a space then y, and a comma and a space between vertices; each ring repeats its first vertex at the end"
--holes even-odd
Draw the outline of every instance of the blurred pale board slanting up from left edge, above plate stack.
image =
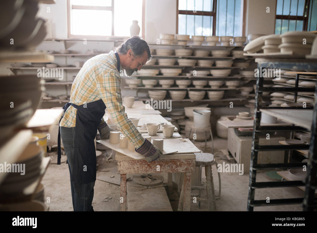
MULTIPOLYGON (((22 154, 24 148, 29 145, 32 130, 21 130, 9 141, 0 147, 0 164, 15 163, 16 159, 22 154)), ((5 168, 6 169, 6 168, 5 168)), ((0 184, 8 173, 0 172, 0 184)))

